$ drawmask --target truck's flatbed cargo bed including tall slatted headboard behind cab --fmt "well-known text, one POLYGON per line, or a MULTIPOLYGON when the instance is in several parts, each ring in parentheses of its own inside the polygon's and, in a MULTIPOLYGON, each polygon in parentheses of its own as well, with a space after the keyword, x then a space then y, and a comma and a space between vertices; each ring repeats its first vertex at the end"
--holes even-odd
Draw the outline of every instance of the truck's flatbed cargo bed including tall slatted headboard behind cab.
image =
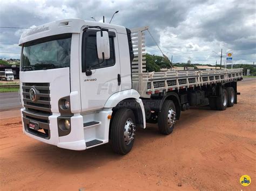
POLYGON ((132 29, 134 59, 132 61, 132 88, 141 97, 183 88, 193 88, 212 83, 242 79, 242 68, 214 70, 179 70, 171 72, 146 72, 145 34, 149 27, 132 29))

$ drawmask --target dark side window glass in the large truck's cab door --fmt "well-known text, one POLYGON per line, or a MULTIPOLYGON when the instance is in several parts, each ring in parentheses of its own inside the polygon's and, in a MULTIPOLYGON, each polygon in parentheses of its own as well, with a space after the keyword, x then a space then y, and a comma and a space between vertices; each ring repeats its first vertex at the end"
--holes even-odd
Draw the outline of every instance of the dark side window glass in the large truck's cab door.
POLYGON ((114 32, 109 32, 109 44, 110 44, 110 58, 104 60, 98 59, 97 53, 97 31, 85 31, 83 34, 83 46, 82 46, 82 70, 85 72, 86 69, 96 69, 113 66, 116 62, 114 56, 114 32), (100 63, 100 64, 99 64, 100 63))

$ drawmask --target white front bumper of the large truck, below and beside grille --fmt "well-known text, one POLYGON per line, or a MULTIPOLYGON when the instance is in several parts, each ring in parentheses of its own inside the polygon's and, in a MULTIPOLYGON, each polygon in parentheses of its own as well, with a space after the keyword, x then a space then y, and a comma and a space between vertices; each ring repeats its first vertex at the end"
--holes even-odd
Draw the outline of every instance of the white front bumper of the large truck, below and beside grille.
POLYGON ((71 117, 71 132, 69 135, 59 137, 58 134, 58 123, 57 118, 60 116, 59 113, 53 113, 51 116, 49 116, 49 132, 50 136, 48 138, 39 137, 35 135, 35 133, 29 131, 28 128, 25 128, 25 125, 27 125, 27 122, 24 121, 23 112, 25 108, 21 109, 21 115, 22 115, 22 125, 23 125, 23 132, 25 135, 37 139, 41 142, 48 143, 51 145, 56 145, 61 148, 66 148, 70 150, 85 150, 85 139, 84 139, 84 127, 83 127, 83 117, 79 114, 75 114, 71 117))

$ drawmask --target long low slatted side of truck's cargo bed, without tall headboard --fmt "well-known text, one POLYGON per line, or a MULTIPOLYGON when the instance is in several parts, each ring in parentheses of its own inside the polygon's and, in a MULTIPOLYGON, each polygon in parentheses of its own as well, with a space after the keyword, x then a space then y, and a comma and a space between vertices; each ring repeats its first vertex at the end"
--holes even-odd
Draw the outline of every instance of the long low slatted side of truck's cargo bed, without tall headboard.
POLYGON ((241 79, 242 68, 133 73, 132 75, 133 88, 139 91, 141 97, 145 98, 150 97, 151 94, 160 93, 163 90, 171 91, 241 79), (142 77, 141 84, 139 84, 140 77, 142 77))

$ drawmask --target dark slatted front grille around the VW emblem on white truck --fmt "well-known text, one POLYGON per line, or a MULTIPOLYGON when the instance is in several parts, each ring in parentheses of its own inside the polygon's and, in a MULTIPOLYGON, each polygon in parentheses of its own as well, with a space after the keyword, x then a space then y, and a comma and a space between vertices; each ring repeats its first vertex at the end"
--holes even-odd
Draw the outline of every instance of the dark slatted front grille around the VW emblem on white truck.
POLYGON ((25 107, 22 114, 25 131, 45 139, 50 138, 49 116, 52 114, 49 87, 49 83, 22 84, 23 102, 25 107), (30 98, 29 91, 31 87, 37 90, 36 96, 38 97, 35 102, 30 98), (38 131, 29 128, 30 122, 38 123, 38 131))

